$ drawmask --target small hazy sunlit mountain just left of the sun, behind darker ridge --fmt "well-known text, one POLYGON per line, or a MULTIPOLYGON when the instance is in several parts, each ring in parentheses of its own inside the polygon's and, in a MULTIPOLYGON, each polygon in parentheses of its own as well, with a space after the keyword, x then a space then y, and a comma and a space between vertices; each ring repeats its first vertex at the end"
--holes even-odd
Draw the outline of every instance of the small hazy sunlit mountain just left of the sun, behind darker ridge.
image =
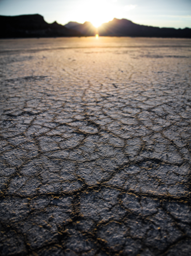
POLYGON ((66 28, 79 31, 84 36, 94 36, 97 33, 97 29, 89 21, 85 21, 83 24, 70 21, 65 26, 66 28))

